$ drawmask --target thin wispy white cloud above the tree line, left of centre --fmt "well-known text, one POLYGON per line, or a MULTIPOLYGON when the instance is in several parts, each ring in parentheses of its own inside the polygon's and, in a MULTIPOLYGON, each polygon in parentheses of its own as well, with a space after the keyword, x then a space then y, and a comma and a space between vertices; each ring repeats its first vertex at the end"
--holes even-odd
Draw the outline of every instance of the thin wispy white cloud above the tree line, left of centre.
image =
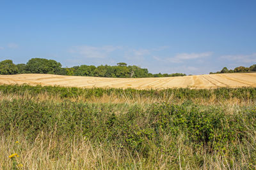
POLYGON ((114 52, 115 50, 121 49, 120 46, 74 46, 68 50, 70 53, 76 53, 85 58, 106 58, 109 53, 114 52))

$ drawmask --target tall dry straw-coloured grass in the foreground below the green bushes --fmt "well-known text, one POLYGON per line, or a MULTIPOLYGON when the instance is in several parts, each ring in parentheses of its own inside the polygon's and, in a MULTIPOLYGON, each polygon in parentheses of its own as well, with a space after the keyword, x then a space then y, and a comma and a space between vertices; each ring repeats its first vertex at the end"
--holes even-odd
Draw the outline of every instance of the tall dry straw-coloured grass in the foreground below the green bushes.
MULTIPOLYGON (((255 136, 252 138, 256 140, 255 136)), ((25 136, 10 134, 1 136, 0 143, 0 169, 13 168, 8 157, 12 153, 20 156, 16 160, 23 167, 18 169, 250 169, 253 166, 247 159, 255 157, 251 155, 255 150, 251 143, 237 145, 241 153, 241 159, 237 160, 236 153, 228 156, 208 153, 204 147, 195 152, 182 136, 168 154, 155 148, 147 159, 139 153, 134 156, 129 150, 86 138, 58 138, 54 132, 42 132, 33 142, 27 141, 25 136), (234 158, 230 159, 232 156, 234 158)), ((165 136, 164 145, 168 147, 170 143, 173 139, 165 136)))

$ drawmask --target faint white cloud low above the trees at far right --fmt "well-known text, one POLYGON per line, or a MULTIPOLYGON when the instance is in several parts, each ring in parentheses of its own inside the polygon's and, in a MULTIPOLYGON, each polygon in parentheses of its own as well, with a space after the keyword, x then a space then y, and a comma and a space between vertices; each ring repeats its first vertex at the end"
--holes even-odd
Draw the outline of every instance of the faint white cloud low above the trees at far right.
POLYGON ((250 55, 223 55, 221 59, 233 60, 237 63, 251 63, 256 62, 256 53, 250 55))

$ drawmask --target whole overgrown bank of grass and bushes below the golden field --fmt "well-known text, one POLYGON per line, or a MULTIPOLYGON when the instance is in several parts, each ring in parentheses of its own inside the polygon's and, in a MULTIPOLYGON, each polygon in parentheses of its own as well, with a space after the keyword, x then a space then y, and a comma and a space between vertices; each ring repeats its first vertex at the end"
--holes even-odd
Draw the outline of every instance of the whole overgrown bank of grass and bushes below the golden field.
POLYGON ((1 169, 256 167, 253 88, 200 92, 27 85, 0 88, 1 169), (63 91, 77 91, 80 99, 62 96, 63 91), (138 93, 143 99, 159 101, 95 103, 93 97, 99 91, 102 96, 95 99, 115 94, 119 100, 130 94, 136 101, 138 93), (89 92, 93 95, 85 96, 89 92), (175 96, 182 92, 186 97, 175 96), (164 95, 172 96, 172 100, 164 95), (214 102, 209 103, 211 97, 204 95, 215 95, 214 102), (199 102, 203 99, 208 103, 199 102), (225 99, 237 103, 218 103, 225 99), (9 158, 13 153, 19 157, 9 158))

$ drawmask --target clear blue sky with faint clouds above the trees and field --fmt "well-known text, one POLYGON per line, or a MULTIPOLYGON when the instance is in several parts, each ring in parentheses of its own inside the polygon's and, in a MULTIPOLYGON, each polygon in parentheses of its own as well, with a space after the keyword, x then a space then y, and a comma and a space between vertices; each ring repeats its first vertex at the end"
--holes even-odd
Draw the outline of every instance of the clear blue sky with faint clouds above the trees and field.
POLYGON ((256 63, 256 1, 0 0, 0 60, 207 74, 256 63))

